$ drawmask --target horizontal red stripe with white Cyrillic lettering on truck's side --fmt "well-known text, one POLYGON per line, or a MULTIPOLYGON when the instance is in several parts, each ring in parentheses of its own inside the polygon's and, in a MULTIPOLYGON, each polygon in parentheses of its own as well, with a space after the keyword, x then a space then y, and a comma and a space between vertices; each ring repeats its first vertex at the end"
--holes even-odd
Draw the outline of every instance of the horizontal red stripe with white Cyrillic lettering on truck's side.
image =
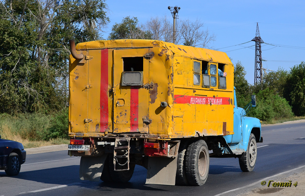
POLYGON ((174 95, 174 103, 230 105, 230 97, 174 95))

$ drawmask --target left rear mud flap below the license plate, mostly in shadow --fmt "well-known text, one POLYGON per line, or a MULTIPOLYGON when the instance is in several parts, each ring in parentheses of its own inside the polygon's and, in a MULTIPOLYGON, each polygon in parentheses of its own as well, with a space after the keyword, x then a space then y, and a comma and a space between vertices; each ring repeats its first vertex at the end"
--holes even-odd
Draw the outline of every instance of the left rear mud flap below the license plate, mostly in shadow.
POLYGON ((79 165, 79 178, 98 182, 102 175, 104 163, 108 154, 98 157, 81 157, 79 165))

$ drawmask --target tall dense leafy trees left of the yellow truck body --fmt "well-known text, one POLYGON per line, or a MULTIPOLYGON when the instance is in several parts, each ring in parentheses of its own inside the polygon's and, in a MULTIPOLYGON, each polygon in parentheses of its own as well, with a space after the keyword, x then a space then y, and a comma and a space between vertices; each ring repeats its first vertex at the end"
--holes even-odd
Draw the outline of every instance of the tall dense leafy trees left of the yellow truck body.
POLYGON ((102 0, 1 1, 0 113, 66 107, 68 40, 100 38, 109 22, 105 9, 102 0))

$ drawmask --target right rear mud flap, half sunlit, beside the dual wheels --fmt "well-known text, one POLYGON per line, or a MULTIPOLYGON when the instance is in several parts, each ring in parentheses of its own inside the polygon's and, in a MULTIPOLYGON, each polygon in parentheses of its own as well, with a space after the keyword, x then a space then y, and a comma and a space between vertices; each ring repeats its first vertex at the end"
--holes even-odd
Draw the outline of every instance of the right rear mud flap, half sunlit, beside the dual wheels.
POLYGON ((146 184, 175 185, 177 157, 149 157, 146 184))

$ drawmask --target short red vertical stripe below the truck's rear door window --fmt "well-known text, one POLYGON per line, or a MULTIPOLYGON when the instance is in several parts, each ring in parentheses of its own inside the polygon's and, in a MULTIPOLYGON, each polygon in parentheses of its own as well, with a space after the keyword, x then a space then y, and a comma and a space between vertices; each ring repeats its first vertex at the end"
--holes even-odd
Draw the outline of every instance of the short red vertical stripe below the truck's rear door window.
POLYGON ((139 128, 139 89, 132 87, 130 89, 130 131, 137 132, 139 128))

